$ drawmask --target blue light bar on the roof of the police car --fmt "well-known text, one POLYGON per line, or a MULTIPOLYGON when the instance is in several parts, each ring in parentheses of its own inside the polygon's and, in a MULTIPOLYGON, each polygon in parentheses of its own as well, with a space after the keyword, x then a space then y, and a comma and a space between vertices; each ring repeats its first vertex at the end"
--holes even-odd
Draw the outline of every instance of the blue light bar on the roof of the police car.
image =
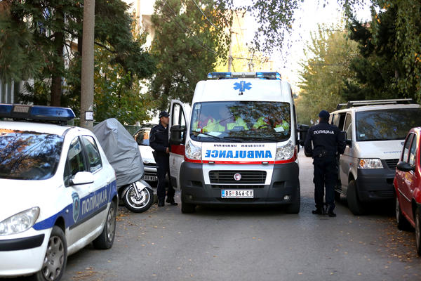
POLYGON ((0 117, 62 123, 74 119, 75 115, 67 107, 0 103, 0 117))

